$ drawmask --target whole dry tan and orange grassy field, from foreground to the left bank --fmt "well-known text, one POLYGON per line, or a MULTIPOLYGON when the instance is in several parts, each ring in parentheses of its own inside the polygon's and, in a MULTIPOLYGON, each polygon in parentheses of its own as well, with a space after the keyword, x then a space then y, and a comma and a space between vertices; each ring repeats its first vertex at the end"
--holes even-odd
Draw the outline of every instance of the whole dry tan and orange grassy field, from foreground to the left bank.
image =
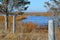
MULTIPOLYGON (((32 14, 29 14, 32 15, 32 14)), ((46 26, 41 26, 37 28, 38 25, 29 22, 22 23, 21 20, 29 16, 27 14, 16 17, 16 32, 12 33, 12 17, 9 17, 9 26, 7 31, 5 31, 4 17, 0 17, 0 40, 48 40, 48 28, 46 26), (21 33, 21 27, 23 28, 23 33, 21 33)), ((40 16, 36 14, 34 16, 40 16)), ((45 15, 45 14, 44 14, 45 15)), ((41 15, 42 16, 42 15, 41 15)), ((45 15, 46 16, 46 15, 45 15)), ((58 27, 55 28, 56 40, 60 40, 60 30, 58 27)))

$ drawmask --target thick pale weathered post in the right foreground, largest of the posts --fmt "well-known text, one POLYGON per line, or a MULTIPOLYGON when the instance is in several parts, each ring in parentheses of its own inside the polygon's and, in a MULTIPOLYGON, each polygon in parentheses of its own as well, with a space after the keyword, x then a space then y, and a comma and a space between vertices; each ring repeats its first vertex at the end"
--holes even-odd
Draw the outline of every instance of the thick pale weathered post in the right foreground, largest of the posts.
POLYGON ((48 40, 55 40, 55 25, 53 20, 48 21, 48 40))

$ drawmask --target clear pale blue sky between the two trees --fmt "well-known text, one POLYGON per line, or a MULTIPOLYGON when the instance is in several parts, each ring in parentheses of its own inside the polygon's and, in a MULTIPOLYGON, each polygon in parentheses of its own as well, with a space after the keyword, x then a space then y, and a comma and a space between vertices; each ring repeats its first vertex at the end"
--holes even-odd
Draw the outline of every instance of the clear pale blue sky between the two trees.
POLYGON ((46 12, 47 9, 44 7, 44 2, 48 0, 29 0, 31 3, 26 12, 46 12))

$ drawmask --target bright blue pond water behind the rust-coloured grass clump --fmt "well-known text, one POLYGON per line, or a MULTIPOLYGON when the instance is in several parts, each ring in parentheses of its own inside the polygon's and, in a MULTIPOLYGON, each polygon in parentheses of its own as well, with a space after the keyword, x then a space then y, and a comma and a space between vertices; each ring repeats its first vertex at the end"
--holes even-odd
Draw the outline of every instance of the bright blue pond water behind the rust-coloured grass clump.
POLYGON ((32 22, 35 24, 47 24, 49 20, 49 17, 46 16, 28 16, 27 19, 22 20, 22 22, 32 22))

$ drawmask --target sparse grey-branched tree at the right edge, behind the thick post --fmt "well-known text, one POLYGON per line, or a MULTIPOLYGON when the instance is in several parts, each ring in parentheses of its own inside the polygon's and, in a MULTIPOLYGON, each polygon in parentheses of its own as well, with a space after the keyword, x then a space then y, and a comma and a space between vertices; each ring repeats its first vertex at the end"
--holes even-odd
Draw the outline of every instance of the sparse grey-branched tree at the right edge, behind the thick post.
MULTIPOLYGON (((60 21, 60 0, 50 0, 45 2, 45 7, 49 8, 50 13, 55 18, 55 25, 59 24, 60 21)), ((51 17, 50 17, 51 18, 51 17)))

